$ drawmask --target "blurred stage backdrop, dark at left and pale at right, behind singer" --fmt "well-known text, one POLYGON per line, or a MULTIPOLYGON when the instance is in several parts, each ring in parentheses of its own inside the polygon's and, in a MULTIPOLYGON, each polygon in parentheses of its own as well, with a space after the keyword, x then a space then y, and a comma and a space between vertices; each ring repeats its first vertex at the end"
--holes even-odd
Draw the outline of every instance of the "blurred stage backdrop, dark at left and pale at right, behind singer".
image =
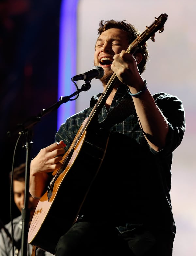
MULTIPOLYGON (((6 166, 2 167, 1 181, 7 184, 3 190, 0 218, 4 223, 10 220, 8 174, 18 138, 17 135, 8 138, 6 133, 58 101, 61 4, 60 0, 0 2, 0 155, 2 166, 6 166)), ((178 96, 185 108, 186 132, 181 145, 174 151, 172 164, 171 198, 177 226, 173 256, 196 254, 195 8, 194 0, 80 0, 75 7, 75 75, 93 67, 100 20, 127 20, 143 32, 145 26, 154 22, 155 16, 161 13, 168 15, 164 31, 161 34, 156 32, 155 42, 148 40, 150 58, 142 76, 147 80, 151 93, 162 91, 178 96)), ((82 82, 78 82, 80 85, 82 82)), ((101 91, 101 83, 93 79, 90 90, 80 93, 78 99, 72 101, 75 111, 88 107, 90 97, 101 91)), ((66 107, 66 104, 61 107, 66 107)), ((32 157, 54 141, 56 131, 57 111, 54 111, 33 127, 32 157)), ((16 151, 16 166, 25 161, 23 144, 25 138, 16 151)), ((15 209, 14 215, 18 214, 15 209)))

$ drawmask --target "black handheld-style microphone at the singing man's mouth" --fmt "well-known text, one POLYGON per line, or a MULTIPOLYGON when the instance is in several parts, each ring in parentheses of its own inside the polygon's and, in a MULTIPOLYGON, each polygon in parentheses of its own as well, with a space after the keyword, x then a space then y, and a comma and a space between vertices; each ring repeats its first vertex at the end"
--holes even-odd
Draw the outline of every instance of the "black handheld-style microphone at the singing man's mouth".
POLYGON ((82 73, 80 75, 75 75, 72 77, 73 81, 78 80, 91 80, 93 78, 100 79, 104 75, 104 69, 100 66, 94 66, 93 69, 90 71, 87 71, 85 73, 82 73))

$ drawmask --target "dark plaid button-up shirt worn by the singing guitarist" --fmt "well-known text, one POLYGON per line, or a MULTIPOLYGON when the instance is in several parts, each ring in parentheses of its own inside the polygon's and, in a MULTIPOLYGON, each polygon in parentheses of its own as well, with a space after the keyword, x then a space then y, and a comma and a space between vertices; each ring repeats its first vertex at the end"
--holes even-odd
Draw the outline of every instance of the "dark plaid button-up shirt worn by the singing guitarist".
MULTIPOLYGON (((65 150, 71 146, 100 95, 91 98, 89 108, 69 117, 61 125, 55 141, 63 140, 65 150)), ((130 98, 131 102, 128 87, 121 86, 113 98, 109 113, 103 106, 94 125, 100 128, 111 111, 125 98, 130 98)), ((94 216, 94 220, 110 219, 116 226, 142 224, 175 233, 170 199, 172 152, 180 145, 185 132, 184 108, 176 96, 156 93, 153 98, 169 126, 165 147, 156 152, 148 145, 135 110, 123 121, 112 123, 109 128, 112 132, 111 142, 81 210, 87 219, 94 216)))

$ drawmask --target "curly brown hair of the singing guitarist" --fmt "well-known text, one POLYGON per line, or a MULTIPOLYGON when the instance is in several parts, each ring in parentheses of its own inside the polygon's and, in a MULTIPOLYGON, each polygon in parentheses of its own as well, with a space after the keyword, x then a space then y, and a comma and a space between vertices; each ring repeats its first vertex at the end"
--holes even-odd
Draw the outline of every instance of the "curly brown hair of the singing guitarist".
MULTIPOLYGON (((125 31, 127 33, 129 44, 131 44, 141 34, 141 32, 134 25, 130 24, 126 20, 115 21, 111 19, 106 21, 104 20, 100 21, 99 28, 98 28, 98 35, 100 36, 102 32, 111 28, 117 28, 125 31)), ((149 53, 148 53, 148 49, 146 48, 146 45, 147 43, 145 44, 145 46, 142 45, 138 50, 135 51, 135 53, 141 53, 143 56, 142 61, 138 64, 138 69, 140 74, 142 74, 145 71, 146 62, 149 58, 149 53)))

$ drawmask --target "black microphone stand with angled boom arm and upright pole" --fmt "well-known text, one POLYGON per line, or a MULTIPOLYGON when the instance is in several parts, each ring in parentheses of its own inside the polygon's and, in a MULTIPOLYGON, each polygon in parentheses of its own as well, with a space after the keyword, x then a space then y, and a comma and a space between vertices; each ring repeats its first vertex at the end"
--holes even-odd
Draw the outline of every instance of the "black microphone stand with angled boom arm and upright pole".
MULTIPOLYGON (((72 79, 71 79, 72 80, 72 79)), ((24 190, 24 208, 22 209, 22 234, 21 234, 21 256, 27 255, 27 244, 28 244, 28 229, 29 229, 29 217, 30 212, 28 210, 28 200, 29 200, 29 178, 30 178, 30 152, 31 152, 31 132, 29 129, 41 120, 41 117, 46 114, 56 110, 60 107, 61 104, 68 102, 73 96, 78 95, 82 91, 87 91, 90 89, 91 80, 85 80, 85 84, 81 86, 81 89, 78 89, 70 96, 60 97, 59 101, 50 106, 48 109, 42 109, 41 113, 35 117, 31 117, 24 124, 19 124, 18 128, 13 132, 7 132, 8 137, 11 137, 14 134, 25 134, 26 136, 26 168, 25 168, 25 190, 24 190)), ((77 87, 77 85, 76 85, 77 87)), ((77 98, 77 97, 76 97, 77 98)), ((75 98, 75 99, 76 99, 75 98)))

